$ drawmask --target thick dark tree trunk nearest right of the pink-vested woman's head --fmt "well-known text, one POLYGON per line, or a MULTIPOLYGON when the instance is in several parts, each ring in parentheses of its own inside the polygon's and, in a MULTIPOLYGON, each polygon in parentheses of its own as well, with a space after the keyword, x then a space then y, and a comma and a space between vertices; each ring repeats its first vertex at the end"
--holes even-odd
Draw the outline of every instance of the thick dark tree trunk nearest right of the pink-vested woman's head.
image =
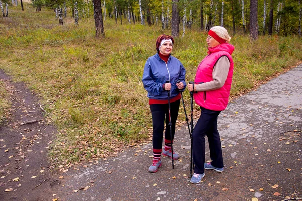
POLYGON ((258 0, 250 0, 250 37, 252 40, 258 38, 258 0))

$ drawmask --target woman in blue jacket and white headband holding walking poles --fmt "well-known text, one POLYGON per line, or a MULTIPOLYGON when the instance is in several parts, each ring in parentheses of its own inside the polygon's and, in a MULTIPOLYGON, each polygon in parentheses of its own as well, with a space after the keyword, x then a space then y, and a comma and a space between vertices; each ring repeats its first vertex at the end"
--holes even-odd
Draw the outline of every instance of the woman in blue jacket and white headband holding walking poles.
MULTIPOLYGON (((172 158, 171 145, 174 139, 175 122, 180 104, 180 92, 186 88, 186 70, 182 63, 171 56, 174 39, 169 35, 160 35, 156 40, 157 53, 149 57, 142 76, 144 88, 148 92, 149 105, 152 114, 152 145, 153 162, 149 172, 157 172, 162 165, 161 155, 172 158), (177 83, 177 81, 180 81, 177 83), (169 81, 169 83, 167 83, 169 81), (168 91, 170 93, 172 139, 170 137, 168 91), (166 123, 165 147, 162 153, 163 132, 166 123)), ((173 152, 173 158, 179 155, 173 152)))

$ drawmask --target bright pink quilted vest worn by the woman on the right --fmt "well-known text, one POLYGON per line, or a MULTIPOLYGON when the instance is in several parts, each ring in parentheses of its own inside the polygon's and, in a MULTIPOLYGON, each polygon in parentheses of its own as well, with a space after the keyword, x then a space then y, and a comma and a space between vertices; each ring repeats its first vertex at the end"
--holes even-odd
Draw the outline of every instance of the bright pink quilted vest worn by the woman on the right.
POLYGON ((198 65, 194 80, 196 84, 213 80, 213 68, 220 57, 227 56, 230 61, 228 77, 221 88, 194 93, 194 100, 199 106, 209 110, 222 111, 226 108, 226 105, 228 105, 234 68, 231 56, 233 51, 234 46, 229 43, 223 43, 214 48, 209 48, 208 55, 198 65))

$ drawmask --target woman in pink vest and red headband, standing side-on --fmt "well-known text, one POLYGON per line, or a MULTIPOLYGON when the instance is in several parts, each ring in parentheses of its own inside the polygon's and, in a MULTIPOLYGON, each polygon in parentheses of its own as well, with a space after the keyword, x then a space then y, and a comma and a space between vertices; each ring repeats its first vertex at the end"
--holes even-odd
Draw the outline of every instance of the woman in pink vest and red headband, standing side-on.
POLYGON ((208 55, 198 65, 194 84, 188 84, 194 92, 194 100, 201 108, 193 132, 194 174, 191 183, 199 183, 204 177, 204 169, 223 172, 223 157, 217 118, 228 104, 232 76, 234 46, 229 44, 231 37, 224 27, 215 26, 206 39, 208 55), (205 139, 207 136, 212 162, 205 163, 205 139))

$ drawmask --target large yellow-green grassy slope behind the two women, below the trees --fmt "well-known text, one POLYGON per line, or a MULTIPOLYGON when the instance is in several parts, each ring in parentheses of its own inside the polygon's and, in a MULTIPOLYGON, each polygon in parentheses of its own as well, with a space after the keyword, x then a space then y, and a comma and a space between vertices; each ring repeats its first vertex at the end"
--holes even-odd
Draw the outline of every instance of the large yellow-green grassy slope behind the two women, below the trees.
MULTIPOLYGON (((171 30, 129 25, 125 19, 123 24, 107 18, 106 38, 96 39, 93 19, 74 26, 67 17, 59 26, 53 11, 37 13, 28 4, 24 12, 10 7, 10 17, 0 19, 0 68, 40 95, 59 129, 51 156, 58 153, 63 163, 105 157, 150 137, 141 76, 145 61, 155 54, 157 36, 171 30)), ((187 81, 194 79, 206 55, 206 37, 192 28, 185 38, 175 39, 173 55, 184 64, 187 81)), ((260 36, 251 43, 247 36, 236 35, 231 44, 232 97, 302 60, 302 40, 296 36, 260 36)), ((184 98, 189 106, 188 91, 184 98)))

